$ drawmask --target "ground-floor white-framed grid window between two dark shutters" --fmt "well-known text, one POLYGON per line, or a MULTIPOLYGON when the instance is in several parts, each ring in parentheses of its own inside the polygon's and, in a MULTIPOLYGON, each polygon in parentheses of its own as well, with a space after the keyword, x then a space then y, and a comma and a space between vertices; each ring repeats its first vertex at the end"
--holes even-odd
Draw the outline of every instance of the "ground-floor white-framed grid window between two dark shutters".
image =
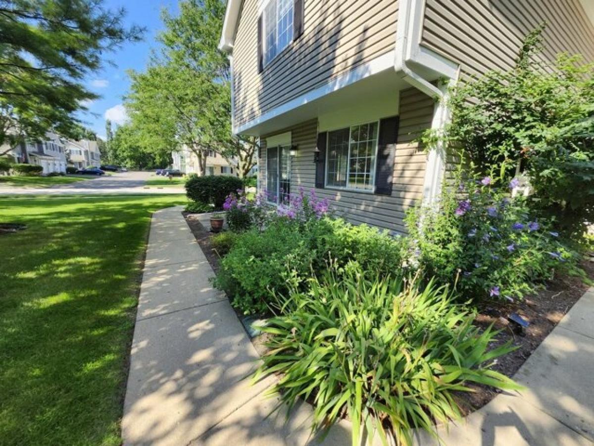
POLYGON ((378 123, 328 132, 326 186, 374 190, 378 123))

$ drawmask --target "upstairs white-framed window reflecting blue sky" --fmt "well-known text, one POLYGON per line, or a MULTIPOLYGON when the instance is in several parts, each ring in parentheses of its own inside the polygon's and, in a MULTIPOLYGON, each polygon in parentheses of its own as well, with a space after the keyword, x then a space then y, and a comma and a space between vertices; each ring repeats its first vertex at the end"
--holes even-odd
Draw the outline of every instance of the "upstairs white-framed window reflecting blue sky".
POLYGON ((264 7, 264 65, 293 39, 293 1, 270 0, 264 7))

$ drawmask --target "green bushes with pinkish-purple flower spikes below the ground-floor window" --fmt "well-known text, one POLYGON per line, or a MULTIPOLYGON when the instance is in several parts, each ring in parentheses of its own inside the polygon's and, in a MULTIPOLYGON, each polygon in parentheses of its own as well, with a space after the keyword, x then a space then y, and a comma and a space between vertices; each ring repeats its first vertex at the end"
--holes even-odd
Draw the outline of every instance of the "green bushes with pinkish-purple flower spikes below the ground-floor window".
POLYGON ((405 238, 334 218, 328 200, 315 191, 299 190, 280 206, 264 197, 232 194, 224 205, 229 227, 244 231, 221 260, 214 285, 245 314, 282 313, 289 290, 305 290, 329 264, 346 268, 356 263, 374 277, 402 268, 405 238))

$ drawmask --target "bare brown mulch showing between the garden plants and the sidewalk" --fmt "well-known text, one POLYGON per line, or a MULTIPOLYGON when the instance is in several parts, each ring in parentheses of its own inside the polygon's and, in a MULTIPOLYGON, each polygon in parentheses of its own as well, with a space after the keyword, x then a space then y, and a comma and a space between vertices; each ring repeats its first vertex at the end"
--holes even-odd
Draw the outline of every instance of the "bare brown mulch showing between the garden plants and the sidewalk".
MULTIPOLYGON (((214 272, 220 268, 220 257, 210 243, 211 233, 204 228, 192 214, 184 213, 188 226, 194 237, 204 251, 208 263, 214 272)), ((582 268, 589 278, 594 279, 594 263, 584 260, 582 268)), ((501 330, 497 335, 493 347, 500 346, 511 341, 513 346, 518 347, 511 353, 499 357, 493 369, 503 373, 505 376, 513 376, 528 359, 530 354, 538 347, 546 336, 555 328, 555 325, 563 319, 563 316, 573 307, 573 304, 582 297, 589 285, 584 284, 579 277, 557 277, 554 281, 546 284, 546 287, 524 300, 514 303, 489 302, 478 308, 476 325, 484 328, 494 325, 495 329, 501 330), (524 334, 514 334, 507 316, 510 313, 517 313, 526 319, 530 325, 525 329, 524 334)), ((238 313, 239 319, 242 318, 238 313)), ((263 339, 255 337, 252 343, 258 353, 263 354, 263 339)), ((471 385, 475 392, 462 392, 457 398, 462 412, 468 414, 489 403, 500 391, 482 385, 471 385)))

